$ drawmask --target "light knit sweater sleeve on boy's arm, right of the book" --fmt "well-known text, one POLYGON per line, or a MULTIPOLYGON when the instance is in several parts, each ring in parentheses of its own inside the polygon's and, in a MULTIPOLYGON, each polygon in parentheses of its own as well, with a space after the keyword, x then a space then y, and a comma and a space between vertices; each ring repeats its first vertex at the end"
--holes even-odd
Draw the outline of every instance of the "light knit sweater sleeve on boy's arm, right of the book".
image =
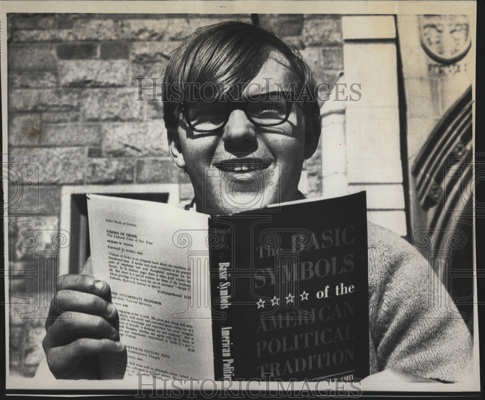
POLYGON ((372 373, 393 369, 441 382, 469 374, 470 332, 447 290, 413 246, 373 224, 369 319, 372 373))

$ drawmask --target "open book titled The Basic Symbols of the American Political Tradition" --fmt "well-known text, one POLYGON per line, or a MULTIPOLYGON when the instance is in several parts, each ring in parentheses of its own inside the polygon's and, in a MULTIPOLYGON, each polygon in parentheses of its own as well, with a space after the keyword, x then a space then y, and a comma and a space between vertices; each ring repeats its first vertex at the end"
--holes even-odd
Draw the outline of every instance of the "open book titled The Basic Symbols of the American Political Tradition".
POLYGON ((88 217, 127 346, 105 377, 369 375, 365 192, 218 217, 88 194, 88 217))

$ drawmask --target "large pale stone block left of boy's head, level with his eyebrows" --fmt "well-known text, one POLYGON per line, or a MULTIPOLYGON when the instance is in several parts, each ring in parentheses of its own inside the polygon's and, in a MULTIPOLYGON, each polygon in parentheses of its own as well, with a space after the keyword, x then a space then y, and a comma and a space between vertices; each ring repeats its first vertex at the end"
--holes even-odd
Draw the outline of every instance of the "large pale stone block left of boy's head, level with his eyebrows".
POLYGON ((141 121, 143 101, 137 101, 137 89, 86 91, 81 112, 87 121, 141 121))

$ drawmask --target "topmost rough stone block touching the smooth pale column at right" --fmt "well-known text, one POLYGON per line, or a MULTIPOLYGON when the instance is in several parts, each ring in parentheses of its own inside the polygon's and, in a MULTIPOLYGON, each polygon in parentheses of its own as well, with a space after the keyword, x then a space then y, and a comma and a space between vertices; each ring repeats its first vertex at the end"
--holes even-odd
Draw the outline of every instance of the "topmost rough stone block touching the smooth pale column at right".
POLYGON ((341 16, 305 16, 302 40, 305 46, 331 46, 342 43, 341 16))

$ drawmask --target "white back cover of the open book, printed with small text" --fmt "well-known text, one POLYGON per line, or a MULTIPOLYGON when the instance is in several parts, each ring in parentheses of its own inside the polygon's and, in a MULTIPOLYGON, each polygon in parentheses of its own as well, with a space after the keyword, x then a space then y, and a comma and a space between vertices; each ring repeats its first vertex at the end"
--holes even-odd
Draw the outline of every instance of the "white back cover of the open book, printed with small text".
POLYGON ((103 378, 213 378, 210 307, 203 295, 208 288, 198 280, 208 276, 208 216, 87 196, 93 274, 111 287, 127 347, 125 359, 102 357, 103 378), (202 290, 192 290, 196 282, 202 290))

